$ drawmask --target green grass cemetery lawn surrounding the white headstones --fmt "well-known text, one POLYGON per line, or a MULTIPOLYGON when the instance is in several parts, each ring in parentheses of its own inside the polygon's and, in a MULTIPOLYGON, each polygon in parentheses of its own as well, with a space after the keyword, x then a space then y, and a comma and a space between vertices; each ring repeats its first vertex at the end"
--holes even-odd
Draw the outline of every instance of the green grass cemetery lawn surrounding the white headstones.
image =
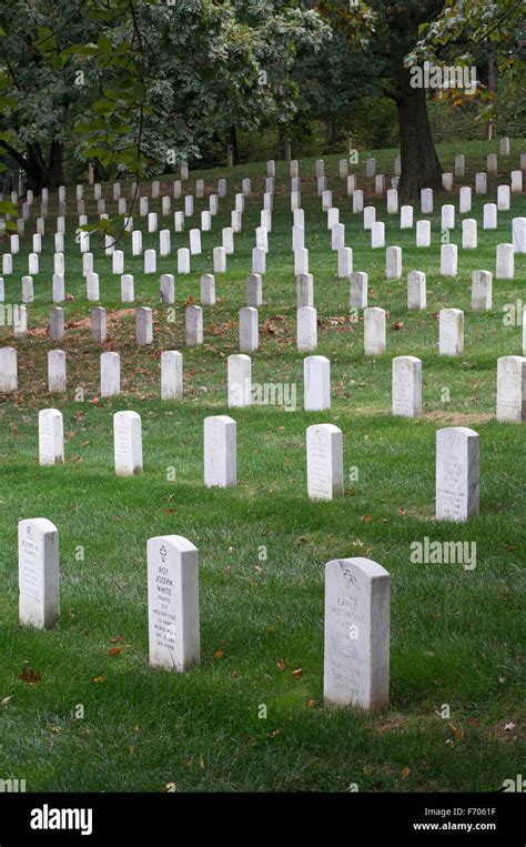
MULTIPOLYGON (((455 180, 453 195, 435 192, 433 215, 422 215, 415 202, 415 221, 432 220, 428 249, 416 249, 415 229, 399 230, 399 215, 385 213, 385 198, 366 198, 386 222, 386 244, 403 249, 402 280, 391 281, 385 250, 371 250, 363 215, 352 213, 346 181, 337 175, 341 157, 326 158, 354 271, 368 273, 368 304, 388 312, 381 356, 364 355, 362 315, 350 321, 348 281, 336 278, 314 160, 301 161, 316 353, 331 360, 332 407, 321 413, 302 409, 286 162, 277 163, 252 380, 296 385, 295 411, 226 407, 226 357, 239 352, 237 312, 246 302, 264 163, 191 173, 184 191, 202 177, 206 196, 195 201, 184 233, 173 233, 172 215, 166 224, 160 216, 160 229, 172 229, 172 254, 158 255, 155 274, 144 275, 143 256, 132 259, 125 243, 133 305, 121 304, 120 278, 92 236, 100 304, 109 314, 102 346, 90 333, 93 304, 85 300, 74 243, 71 186, 65 340, 49 340, 53 196, 29 334, 13 342, 11 330, 0 329, 1 344, 19 352, 19 391, 0 406, 0 777, 23 778, 28 790, 42 791, 487 791, 522 773, 525 440, 522 426, 497 423, 495 404, 497 359, 522 353, 519 321, 505 325, 503 319, 506 304, 525 300, 526 255, 515 256, 514 280, 494 276, 488 312, 471 309, 471 273, 495 272, 497 243, 510 242, 512 218, 526 215, 526 195, 513 195, 512 211, 498 213, 498 230, 482 229, 483 204, 495 202, 496 185, 507 182, 525 149, 514 140, 512 155, 499 157, 499 177, 488 179, 488 195, 473 192, 467 216, 478 220, 478 248, 459 246, 456 278, 439 274, 439 208, 457 208, 458 186, 474 186, 498 142, 464 145, 466 178, 455 180), (202 233, 203 253, 192 256, 191 274, 176 274, 176 248, 188 246, 188 230, 199 225, 193 221, 208 209, 218 177, 229 181, 227 199, 220 201, 212 232, 202 233), (252 177, 243 231, 234 236, 227 272, 215 274, 218 303, 203 307, 204 344, 186 347, 184 303, 200 302, 200 276, 213 271, 212 249, 230 225, 242 177, 252 177), (411 270, 427 274, 426 311, 407 311, 411 270), (160 273, 175 274, 174 323, 170 306, 159 303, 160 273), (153 344, 139 349, 134 306, 141 304, 154 310, 154 332, 153 344), (437 313, 446 306, 465 312, 458 357, 438 355, 437 313), (57 346, 67 352, 68 393, 51 396, 47 353, 57 346), (100 397, 103 350, 121 354, 122 393, 113 400, 100 397), (183 353, 181 400, 160 400, 162 350, 183 353), (392 359, 403 354, 423 362, 424 407, 415 420, 391 414, 392 359), (83 401, 74 399, 79 387, 83 401), (63 412, 65 464, 40 467, 38 411, 50 406, 63 412), (133 478, 113 471, 112 416, 127 409, 140 413, 143 426, 144 473, 133 478), (237 422, 237 485, 226 490, 203 485, 203 419, 214 414, 237 422), (345 494, 333 502, 307 500, 305 430, 313 423, 343 431, 345 494), (481 436, 481 515, 465 524, 434 520, 435 433, 455 425, 481 436), (61 621, 44 633, 18 624, 17 525, 40 516, 59 528, 61 562, 61 621), (189 538, 200 555, 202 664, 182 674, 148 664, 146 541, 172 533, 189 538), (411 544, 426 536, 475 542, 476 567, 412 563, 411 544), (324 565, 351 556, 378 562, 392 577, 391 703, 380 715, 323 704, 324 565)), ((453 170, 458 145, 438 152, 444 169, 453 170)), ((395 154, 375 151, 376 172, 392 172, 395 154)), ((351 172, 371 192, 364 162, 361 154, 351 172)), ((171 194, 172 178, 164 182, 161 194, 171 194)), ((91 190, 85 193, 91 220, 95 203, 91 190)), ((141 194, 150 195, 149 186, 141 194)), ((172 200, 172 213, 182 202, 172 200)), ((160 203, 150 200, 150 210, 160 212, 160 203)), ((159 233, 146 234, 145 219, 138 209, 133 214, 144 249, 158 249, 159 233)), ((457 244, 459 220, 451 232, 457 244)), ((14 273, 6 278, 6 302, 20 302, 28 242, 21 240, 14 273)))

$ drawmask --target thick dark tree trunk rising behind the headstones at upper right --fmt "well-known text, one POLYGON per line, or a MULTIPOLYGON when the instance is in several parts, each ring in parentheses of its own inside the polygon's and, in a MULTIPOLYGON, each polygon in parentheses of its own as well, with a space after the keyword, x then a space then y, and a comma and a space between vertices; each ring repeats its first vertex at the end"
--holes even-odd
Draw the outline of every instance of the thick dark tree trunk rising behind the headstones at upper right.
POLYGON ((442 188, 442 165, 431 133, 425 89, 413 89, 397 101, 402 177, 401 201, 415 200, 421 189, 442 188))

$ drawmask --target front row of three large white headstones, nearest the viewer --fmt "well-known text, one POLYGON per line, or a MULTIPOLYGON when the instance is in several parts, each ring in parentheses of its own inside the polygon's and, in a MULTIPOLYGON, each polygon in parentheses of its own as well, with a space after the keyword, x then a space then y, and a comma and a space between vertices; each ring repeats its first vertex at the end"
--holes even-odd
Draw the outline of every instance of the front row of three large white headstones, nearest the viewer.
MULTIPOLYGON (((149 662, 185 672, 201 662, 199 553, 181 535, 148 542, 149 662)), ((59 531, 43 517, 18 527, 19 622, 60 623, 59 531)), ((367 558, 325 566, 324 697, 338 706, 384 709, 390 689, 391 576, 367 558)))

